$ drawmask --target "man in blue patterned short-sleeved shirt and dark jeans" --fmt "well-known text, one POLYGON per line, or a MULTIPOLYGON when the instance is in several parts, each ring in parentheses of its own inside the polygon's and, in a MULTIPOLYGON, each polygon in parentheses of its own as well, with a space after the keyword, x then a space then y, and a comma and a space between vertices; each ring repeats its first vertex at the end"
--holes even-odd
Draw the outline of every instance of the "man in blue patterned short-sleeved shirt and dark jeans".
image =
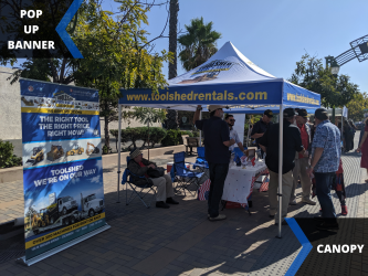
POLYGON ((330 188, 340 160, 340 130, 328 120, 325 108, 316 109, 316 131, 312 142, 312 161, 307 173, 314 171, 322 217, 317 216, 319 230, 338 230, 330 188))

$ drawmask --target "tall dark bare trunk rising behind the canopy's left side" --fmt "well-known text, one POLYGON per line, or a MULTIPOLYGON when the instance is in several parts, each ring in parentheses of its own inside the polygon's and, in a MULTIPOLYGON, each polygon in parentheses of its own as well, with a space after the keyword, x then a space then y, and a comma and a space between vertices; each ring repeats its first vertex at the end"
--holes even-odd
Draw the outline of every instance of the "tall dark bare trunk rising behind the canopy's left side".
MULTIPOLYGON (((169 63, 169 79, 177 76, 178 59, 178 12, 179 0, 170 0, 170 20, 169 20, 169 52, 174 53, 172 63, 169 63)), ((178 128, 178 112, 168 110, 167 113, 167 129, 178 128)))

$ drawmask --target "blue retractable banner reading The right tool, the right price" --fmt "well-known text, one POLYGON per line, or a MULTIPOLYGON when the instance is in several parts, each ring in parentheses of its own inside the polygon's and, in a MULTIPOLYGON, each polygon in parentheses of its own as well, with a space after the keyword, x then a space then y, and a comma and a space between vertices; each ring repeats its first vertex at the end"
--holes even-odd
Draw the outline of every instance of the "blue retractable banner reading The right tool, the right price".
POLYGON ((98 92, 21 79, 27 265, 105 222, 98 92))

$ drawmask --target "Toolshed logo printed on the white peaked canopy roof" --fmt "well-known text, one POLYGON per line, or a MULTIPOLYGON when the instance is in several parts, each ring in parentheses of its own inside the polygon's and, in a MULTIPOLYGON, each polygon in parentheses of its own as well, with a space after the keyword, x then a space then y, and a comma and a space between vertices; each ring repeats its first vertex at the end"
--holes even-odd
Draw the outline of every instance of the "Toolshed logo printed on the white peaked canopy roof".
POLYGON ((222 71, 229 71, 235 64, 238 63, 221 60, 212 61, 208 64, 204 64, 203 66, 200 66, 194 73, 192 73, 191 75, 196 76, 194 78, 185 79, 180 82, 180 84, 190 84, 215 79, 222 71), (198 76, 199 74, 202 75, 198 76))

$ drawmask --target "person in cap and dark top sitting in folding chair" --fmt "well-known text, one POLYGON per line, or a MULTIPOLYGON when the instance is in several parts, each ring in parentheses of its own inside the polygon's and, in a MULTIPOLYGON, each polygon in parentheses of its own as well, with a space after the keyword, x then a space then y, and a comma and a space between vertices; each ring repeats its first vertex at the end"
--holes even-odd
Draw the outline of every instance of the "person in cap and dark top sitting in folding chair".
MULTIPOLYGON (((139 149, 134 149, 129 153, 130 161, 128 162, 128 169, 133 174, 138 177, 145 176, 148 178, 148 181, 157 187, 157 194, 156 194, 156 206, 157 208, 170 208, 169 204, 179 204, 179 202, 172 199, 174 197, 174 188, 171 177, 169 174, 165 174, 160 178, 150 178, 147 174, 149 168, 156 168, 156 163, 148 161, 147 159, 143 158, 143 153, 139 149)), ((141 178, 135 178, 132 176, 133 182, 136 185, 144 185, 146 184, 147 180, 141 178)))

